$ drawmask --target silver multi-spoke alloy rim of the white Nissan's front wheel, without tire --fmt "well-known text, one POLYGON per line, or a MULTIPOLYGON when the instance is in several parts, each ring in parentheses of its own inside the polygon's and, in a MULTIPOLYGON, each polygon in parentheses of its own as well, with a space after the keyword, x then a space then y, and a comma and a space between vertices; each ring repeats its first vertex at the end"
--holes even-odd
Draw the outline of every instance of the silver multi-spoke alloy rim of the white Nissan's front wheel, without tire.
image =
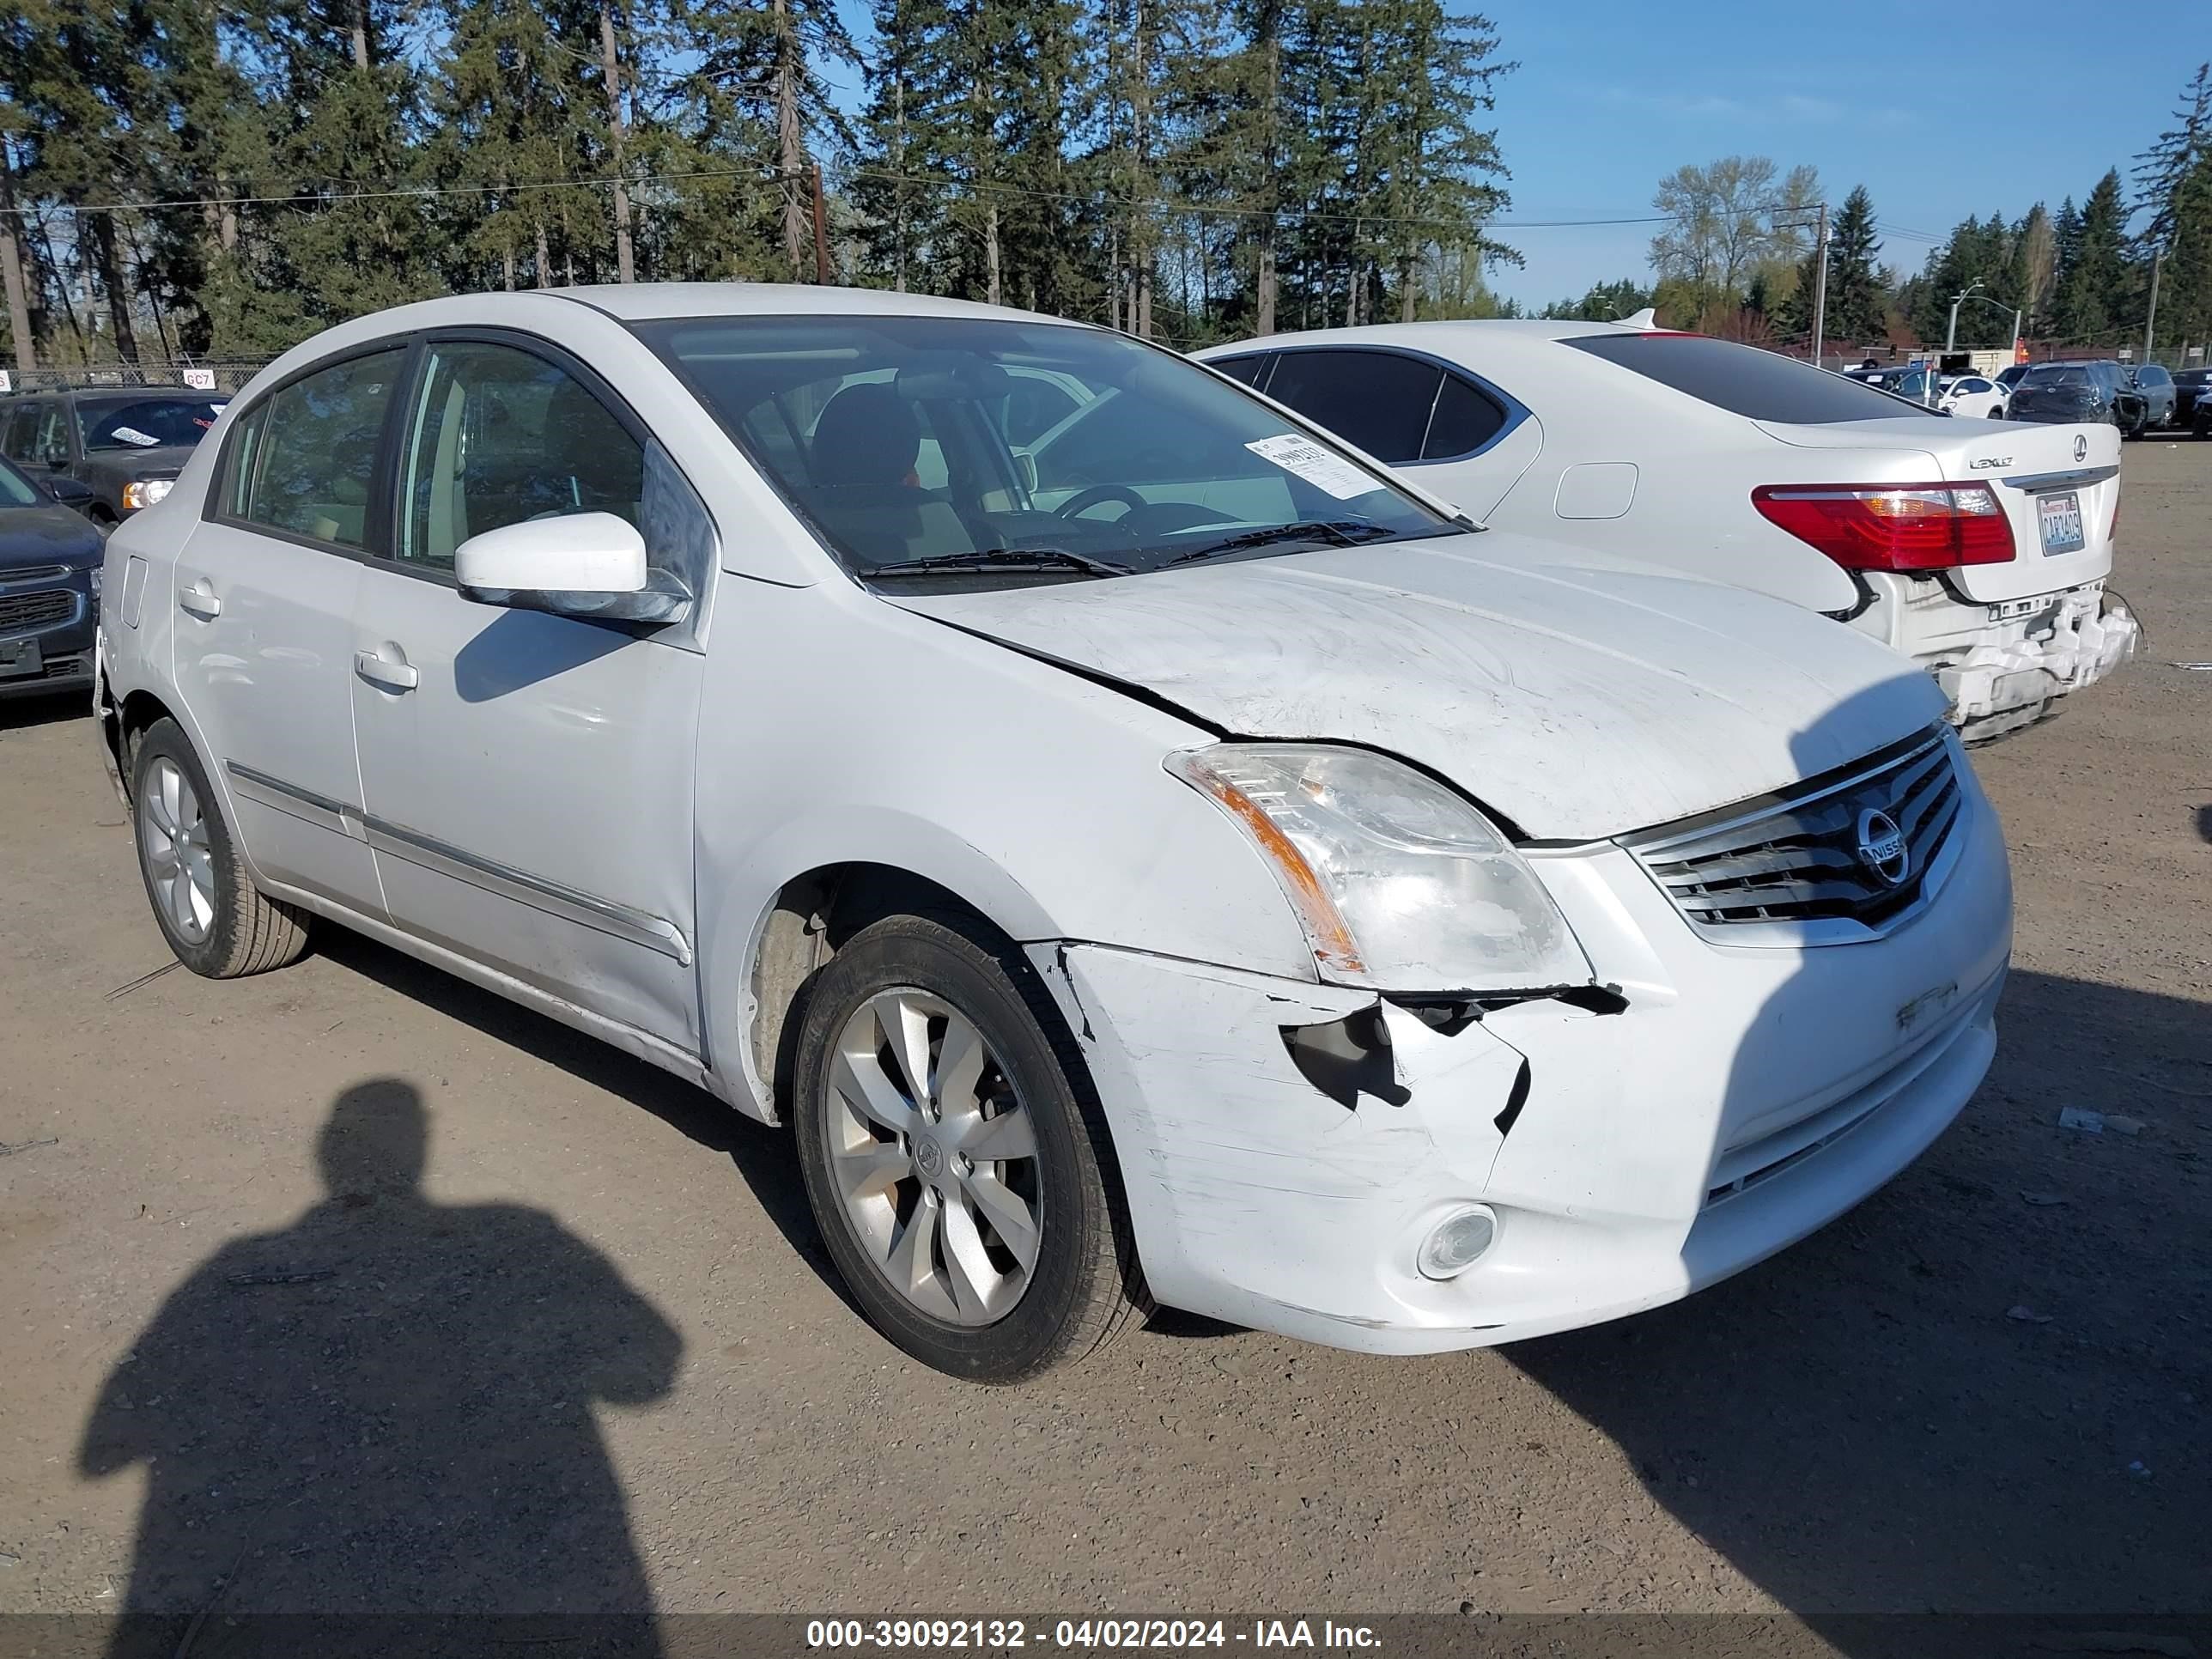
POLYGON ((1029 1106, 975 1024, 927 991, 880 991, 845 1022, 823 1113, 830 1177, 863 1254, 951 1325, 1013 1312, 1044 1206, 1029 1106))

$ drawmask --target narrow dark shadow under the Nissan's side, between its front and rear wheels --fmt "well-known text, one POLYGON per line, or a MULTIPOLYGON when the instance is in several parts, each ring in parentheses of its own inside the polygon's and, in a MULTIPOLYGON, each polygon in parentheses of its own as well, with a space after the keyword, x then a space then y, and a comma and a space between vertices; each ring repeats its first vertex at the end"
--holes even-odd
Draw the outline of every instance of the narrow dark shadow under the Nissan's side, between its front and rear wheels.
POLYGON ((728 1157, 752 1190, 754 1201, 776 1223, 785 1243, 790 1243, 792 1254, 805 1261, 814 1270, 814 1276, 858 1314, 858 1307, 845 1292, 845 1281, 838 1279, 836 1267, 830 1263, 830 1252, 823 1250, 814 1214, 807 1210, 807 1194, 799 1179, 799 1159, 792 1157, 787 1130, 759 1124, 659 1066, 635 1060, 597 1037, 573 1031, 502 995, 482 991, 467 980, 458 980, 442 969, 418 962, 361 933, 349 933, 341 927, 319 927, 314 947, 330 962, 365 980, 374 980, 387 991, 436 1006, 440 1013, 449 1013, 487 1037, 535 1055, 549 1066, 560 1066, 593 1088, 604 1088, 608 1095, 653 1113, 706 1150, 728 1157))

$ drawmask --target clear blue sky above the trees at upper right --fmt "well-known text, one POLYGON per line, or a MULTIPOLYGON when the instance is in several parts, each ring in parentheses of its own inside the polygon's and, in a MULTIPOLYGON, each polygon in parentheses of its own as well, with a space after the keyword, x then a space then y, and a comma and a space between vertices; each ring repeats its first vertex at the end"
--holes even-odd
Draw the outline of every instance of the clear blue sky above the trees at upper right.
MULTIPOLYGON (((1460 2, 1520 62, 1495 111, 1509 221, 1650 215, 1683 161, 1770 155, 1783 170, 1816 166, 1836 206, 1865 184, 1880 259, 1900 272, 1969 212, 2055 210, 2110 166, 2126 179, 2212 58, 2208 0, 1460 2)), ((838 9, 865 51, 863 0, 838 9)), ((856 104, 858 75, 834 80, 856 104)), ((1646 276, 1655 228, 1500 228, 1526 265, 1491 283, 1542 305, 1646 276)))

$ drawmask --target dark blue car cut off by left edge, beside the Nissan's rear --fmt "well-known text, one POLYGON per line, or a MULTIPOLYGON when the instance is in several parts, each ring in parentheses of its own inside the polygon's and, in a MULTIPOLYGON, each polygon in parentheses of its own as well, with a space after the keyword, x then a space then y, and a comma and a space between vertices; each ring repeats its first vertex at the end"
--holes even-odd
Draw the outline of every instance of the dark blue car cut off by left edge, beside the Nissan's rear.
POLYGON ((0 460, 0 697, 93 681, 100 531, 66 504, 88 493, 0 460))

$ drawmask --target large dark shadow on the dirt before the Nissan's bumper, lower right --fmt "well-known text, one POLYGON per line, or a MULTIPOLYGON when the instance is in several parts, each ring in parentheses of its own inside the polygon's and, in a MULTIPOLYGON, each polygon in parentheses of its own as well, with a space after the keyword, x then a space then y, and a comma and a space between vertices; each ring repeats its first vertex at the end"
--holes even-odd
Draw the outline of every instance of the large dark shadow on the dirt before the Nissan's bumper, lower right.
POLYGON ((1825 1232, 1502 1349, 1854 1657, 1982 1650, 1863 1613, 2205 1610, 2212 1006, 2015 973, 2000 1033, 1960 1121, 1825 1232))

